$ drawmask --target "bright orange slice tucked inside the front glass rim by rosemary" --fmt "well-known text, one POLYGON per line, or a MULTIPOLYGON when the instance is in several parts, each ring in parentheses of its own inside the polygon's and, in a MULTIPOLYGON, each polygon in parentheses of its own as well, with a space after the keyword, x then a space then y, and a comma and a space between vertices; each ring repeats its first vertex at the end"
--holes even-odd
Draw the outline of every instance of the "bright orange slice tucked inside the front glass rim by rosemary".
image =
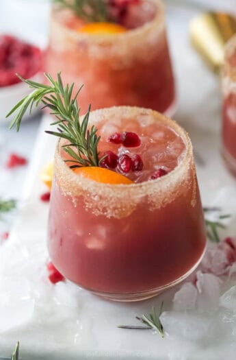
POLYGON ((133 181, 126 176, 104 167, 76 167, 73 171, 78 175, 103 184, 133 184, 133 181))

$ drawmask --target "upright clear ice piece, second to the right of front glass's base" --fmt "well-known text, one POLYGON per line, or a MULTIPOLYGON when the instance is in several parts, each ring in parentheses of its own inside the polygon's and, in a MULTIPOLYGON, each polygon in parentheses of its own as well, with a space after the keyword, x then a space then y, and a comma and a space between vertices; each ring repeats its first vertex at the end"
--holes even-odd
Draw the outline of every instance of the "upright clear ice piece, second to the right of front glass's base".
POLYGON ((197 309, 199 311, 215 311, 219 306, 220 279, 213 274, 196 273, 198 289, 197 309))

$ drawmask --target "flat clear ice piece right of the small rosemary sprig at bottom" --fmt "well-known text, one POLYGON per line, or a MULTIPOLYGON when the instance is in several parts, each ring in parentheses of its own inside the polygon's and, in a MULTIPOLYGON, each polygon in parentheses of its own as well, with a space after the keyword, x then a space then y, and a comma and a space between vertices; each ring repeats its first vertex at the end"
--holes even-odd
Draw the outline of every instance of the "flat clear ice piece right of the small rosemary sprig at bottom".
POLYGON ((205 337, 211 320, 203 315, 181 311, 164 311, 160 316, 163 329, 170 336, 197 340, 205 337))

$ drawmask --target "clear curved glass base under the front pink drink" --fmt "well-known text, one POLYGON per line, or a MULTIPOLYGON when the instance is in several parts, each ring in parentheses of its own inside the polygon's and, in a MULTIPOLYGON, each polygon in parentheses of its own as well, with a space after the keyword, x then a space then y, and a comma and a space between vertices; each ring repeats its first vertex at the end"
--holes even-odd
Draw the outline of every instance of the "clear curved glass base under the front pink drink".
POLYGON ((176 280, 172 281, 172 283, 168 283, 167 285, 164 285, 162 287, 157 287, 156 289, 150 289, 148 291, 142 291, 138 293, 103 293, 100 291, 92 291, 92 290, 90 291, 94 293, 94 295, 100 296, 101 298, 104 298, 106 300, 119 301, 119 302, 134 302, 134 301, 142 301, 149 298, 153 298, 154 296, 159 295, 159 293, 162 293, 163 291, 170 289, 170 287, 173 287, 174 285, 181 283, 181 281, 185 280, 185 278, 187 278, 190 274, 192 274, 192 272, 194 272, 194 270, 198 267, 198 265, 202 261, 202 257, 205 254, 205 250, 206 248, 202 252, 196 264, 191 269, 189 269, 188 272, 186 272, 180 278, 177 278, 176 280))

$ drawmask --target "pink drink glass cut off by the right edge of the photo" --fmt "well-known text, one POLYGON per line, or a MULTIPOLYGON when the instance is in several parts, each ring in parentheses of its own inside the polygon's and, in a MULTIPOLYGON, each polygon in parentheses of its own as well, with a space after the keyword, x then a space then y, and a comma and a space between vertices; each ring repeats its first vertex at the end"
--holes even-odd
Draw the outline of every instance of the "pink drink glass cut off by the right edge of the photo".
POLYGON ((236 35, 226 44, 222 87, 222 155, 236 176, 236 35))

